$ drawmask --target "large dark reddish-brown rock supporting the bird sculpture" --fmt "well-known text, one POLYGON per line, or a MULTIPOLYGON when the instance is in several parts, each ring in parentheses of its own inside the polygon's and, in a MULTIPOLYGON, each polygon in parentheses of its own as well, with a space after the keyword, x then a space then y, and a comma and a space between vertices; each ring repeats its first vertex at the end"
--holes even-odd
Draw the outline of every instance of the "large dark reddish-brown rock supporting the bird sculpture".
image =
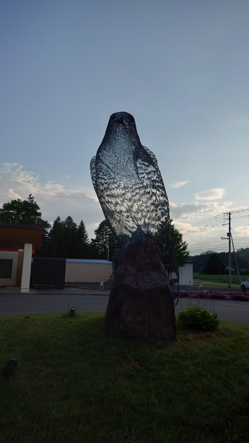
POLYGON ((115 261, 105 317, 107 336, 172 342, 175 307, 157 242, 145 236, 145 245, 129 245, 116 254, 115 261))

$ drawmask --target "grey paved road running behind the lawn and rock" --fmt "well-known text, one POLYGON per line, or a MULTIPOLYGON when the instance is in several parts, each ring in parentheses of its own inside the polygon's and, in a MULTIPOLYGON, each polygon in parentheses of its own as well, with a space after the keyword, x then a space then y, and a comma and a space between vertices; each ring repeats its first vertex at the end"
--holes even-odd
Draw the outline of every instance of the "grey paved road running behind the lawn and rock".
MULTIPOLYGON (((108 303, 108 291, 64 290, 67 292, 29 294, 0 292, 0 315, 21 314, 31 312, 65 312, 72 306, 78 311, 105 311, 108 303)), ((191 299, 192 306, 196 300, 191 299)), ((232 320, 249 324, 249 302, 233 300, 200 300, 200 307, 218 313, 222 320, 232 320)), ((182 298, 176 306, 176 313, 188 307, 188 299, 182 298)))

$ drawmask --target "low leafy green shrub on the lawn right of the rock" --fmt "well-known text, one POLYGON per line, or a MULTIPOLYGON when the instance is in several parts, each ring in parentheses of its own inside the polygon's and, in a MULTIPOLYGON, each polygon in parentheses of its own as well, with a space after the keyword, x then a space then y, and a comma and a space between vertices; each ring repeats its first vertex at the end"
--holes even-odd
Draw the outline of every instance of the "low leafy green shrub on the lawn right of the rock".
POLYGON ((200 307, 188 307, 178 314, 178 319, 185 328, 215 330, 220 325, 218 314, 201 309, 200 307))

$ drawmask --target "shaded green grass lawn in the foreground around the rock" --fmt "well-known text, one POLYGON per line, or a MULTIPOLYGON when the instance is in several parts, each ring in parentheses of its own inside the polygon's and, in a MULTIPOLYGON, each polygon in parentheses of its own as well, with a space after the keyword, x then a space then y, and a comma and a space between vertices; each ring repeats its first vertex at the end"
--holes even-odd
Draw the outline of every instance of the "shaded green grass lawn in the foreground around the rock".
POLYGON ((249 325, 174 343, 107 339, 102 312, 3 315, 0 442, 249 440, 249 325))

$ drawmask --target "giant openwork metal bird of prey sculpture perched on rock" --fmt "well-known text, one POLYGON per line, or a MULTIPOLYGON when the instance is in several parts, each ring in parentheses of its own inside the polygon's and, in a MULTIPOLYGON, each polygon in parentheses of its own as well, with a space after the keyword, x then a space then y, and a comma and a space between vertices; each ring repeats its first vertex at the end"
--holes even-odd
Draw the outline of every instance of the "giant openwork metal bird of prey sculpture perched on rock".
POLYGON ((165 231, 166 226, 164 256, 176 282, 178 267, 170 237, 168 197, 157 159, 142 146, 131 114, 111 115, 90 170, 107 224, 120 247, 138 236, 143 239, 144 234, 157 239, 159 229, 163 226, 165 231))

